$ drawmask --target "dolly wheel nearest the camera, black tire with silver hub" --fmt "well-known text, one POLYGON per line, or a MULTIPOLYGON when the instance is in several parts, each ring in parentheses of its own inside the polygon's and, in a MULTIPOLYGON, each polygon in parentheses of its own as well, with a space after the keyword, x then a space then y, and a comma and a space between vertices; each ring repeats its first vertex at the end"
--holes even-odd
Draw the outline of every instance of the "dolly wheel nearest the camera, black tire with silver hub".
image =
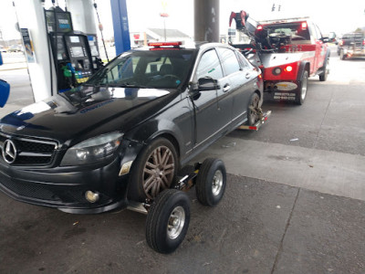
POLYGON ((172 253, 183 242, 189 222, 188 195, 176 189, 162 191, 147 215, 147 244, 157 252, 172 253))

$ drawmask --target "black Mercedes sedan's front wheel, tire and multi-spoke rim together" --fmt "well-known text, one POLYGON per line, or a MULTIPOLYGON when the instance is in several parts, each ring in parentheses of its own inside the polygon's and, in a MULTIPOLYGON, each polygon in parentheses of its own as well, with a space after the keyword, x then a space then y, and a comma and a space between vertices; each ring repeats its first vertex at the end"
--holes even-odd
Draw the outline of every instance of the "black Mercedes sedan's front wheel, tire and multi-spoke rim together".
POLYGON ((175 147, 165 138, 157 138, 138 155, 131 168, 128 196, 133 201, 154 199, 171 188, 178 171, 175 147))

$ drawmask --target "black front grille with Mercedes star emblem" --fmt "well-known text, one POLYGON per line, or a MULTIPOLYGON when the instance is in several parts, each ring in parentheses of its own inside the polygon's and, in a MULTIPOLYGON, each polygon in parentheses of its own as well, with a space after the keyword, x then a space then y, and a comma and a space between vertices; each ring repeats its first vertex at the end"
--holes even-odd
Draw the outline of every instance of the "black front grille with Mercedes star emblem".
POLYGON ((2 151, 4 142, 8 139, 16 145, 16 160, 11 165, 48 165, 52 162, 57 149, 55 141, 21 138, 0 133, 2 151))

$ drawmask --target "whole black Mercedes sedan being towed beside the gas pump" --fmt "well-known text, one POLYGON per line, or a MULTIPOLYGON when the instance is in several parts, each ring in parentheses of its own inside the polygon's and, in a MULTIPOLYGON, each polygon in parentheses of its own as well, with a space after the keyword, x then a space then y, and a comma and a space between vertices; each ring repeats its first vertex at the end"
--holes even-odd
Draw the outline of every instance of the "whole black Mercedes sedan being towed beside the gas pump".
POLYGON ((0 189, 18 201, 101 213, 172 188, 178 171, 263 101, 261 71, 235 48, 155 43, 76 89, 0 121, 0 189))

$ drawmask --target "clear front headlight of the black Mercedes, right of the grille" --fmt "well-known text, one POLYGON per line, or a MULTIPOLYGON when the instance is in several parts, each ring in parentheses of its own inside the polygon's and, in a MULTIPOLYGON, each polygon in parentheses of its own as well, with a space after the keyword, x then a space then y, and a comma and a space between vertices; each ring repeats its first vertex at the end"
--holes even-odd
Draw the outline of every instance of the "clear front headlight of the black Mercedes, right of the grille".
POLYGON ((80 165, 102 161, 118 149, 122 136, 123 134, 120 132, 112 132, 80 142, 68 149, 61 165, 80 165))

